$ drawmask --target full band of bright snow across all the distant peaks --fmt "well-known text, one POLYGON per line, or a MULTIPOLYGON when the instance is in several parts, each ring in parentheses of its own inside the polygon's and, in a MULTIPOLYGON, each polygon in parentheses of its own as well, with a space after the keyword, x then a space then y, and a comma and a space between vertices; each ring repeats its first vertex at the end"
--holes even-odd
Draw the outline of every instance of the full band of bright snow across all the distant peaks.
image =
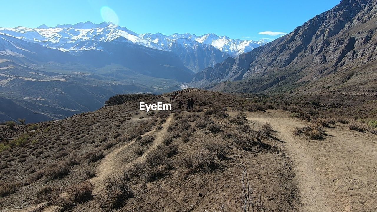
MULTIPOLYGON (((268 43, 265 40, 239 40, 230 39, 227 36, 218 36, 213 33, 197 36, 190 33, 175 33, 173 35, 163 35, 161 33, 136 34, 126 27, 115 25, 111 22, 95 24, 92 22, 80 22, 74 25, 57 25, 48 27, 46 25, 37 28, 0 28, 0 32, 21 40, 39 43, 48 48, 59 49, 61 51, 77 51, 101 49, 98 42, 110 42, 122 40, 124 42, 143 45, 149 48, 170 51, 169 46, 178 39, 187 39, 202 44, 212 45, 222 52, 226 52, 232 57, 248 52, 258 46, 268 43), (118 39, 119 38, 119 39, 118 39), (124 39, 122 39, 124 38, 124 39)), ((197 45, 195 42, 179 41, 181 45, 197 45)))

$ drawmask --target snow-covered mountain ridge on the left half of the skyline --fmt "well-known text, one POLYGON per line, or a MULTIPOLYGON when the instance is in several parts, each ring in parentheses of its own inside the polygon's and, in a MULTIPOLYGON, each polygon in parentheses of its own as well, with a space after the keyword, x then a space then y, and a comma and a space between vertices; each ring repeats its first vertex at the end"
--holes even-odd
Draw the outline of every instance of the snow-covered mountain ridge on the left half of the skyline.
POLYGON ((98 49, 97 42, 108 42, 116 38, 126 38, 126 42, 146 46, 152 49, 166 50, 155 43, 139 37, 135 32, 113 23, 80 22, 75 25, 57 25, 48 28, 41 25, 38 28, 0 28, 3 34, 11 35, 21 40, 39 43, 42 46, 61 51, 77 51, 98 49))

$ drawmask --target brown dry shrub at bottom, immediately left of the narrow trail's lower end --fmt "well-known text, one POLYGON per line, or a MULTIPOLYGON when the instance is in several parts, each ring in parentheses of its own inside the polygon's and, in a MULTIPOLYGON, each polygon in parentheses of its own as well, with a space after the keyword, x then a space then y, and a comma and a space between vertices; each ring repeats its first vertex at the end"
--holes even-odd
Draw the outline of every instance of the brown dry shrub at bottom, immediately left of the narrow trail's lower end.
POLYGON ((77 203, 90 200, 92 198, 93 189, 94 184, 90 181, 85 181, 69 187, 66 190, 66 194, 59 195, 53 200, 55 209, 58 211, 64 211, 75 206, 77 203))

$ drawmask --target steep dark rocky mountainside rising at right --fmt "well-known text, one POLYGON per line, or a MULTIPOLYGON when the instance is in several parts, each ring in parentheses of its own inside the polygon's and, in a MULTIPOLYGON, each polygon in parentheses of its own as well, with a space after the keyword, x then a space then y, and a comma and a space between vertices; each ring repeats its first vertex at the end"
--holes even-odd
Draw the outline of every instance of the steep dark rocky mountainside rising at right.
MULTIPOLYGON (((192 84, 203 87, 221 81, 264 79, 261 83, 276 86, 293 76, 292 84, 313 81, 324 84, 329 78, 334 78, 334 81, 339 81, 336 83, 339 87, 339 84, 352 79, 349 70, 353 70, 352 75, 357 74, 362 71, 360 67, 377 58, 376 2, 343 0, 290 34, 236 57, 233 63, 219 63, 215 68, 204 69, 196 74, 192 84), (276 77, 281 76, 284 80, 273 83, 276 77)), ((376 72, 370 67, 368 70, 368 77, 355 82, 373 86, 371 80, 375 80, 376 72)), ((227 86, 215 87, 224 89, 227 86)), ((253 86, 252 83, 250 86, 253 86)))

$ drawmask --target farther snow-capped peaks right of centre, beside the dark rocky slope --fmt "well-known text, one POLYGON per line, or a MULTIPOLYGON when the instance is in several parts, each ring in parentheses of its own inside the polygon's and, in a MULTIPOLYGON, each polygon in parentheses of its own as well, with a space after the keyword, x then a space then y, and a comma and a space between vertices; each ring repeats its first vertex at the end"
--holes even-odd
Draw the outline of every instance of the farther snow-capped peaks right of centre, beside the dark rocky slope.
POLYGON ((161 47, 166 48, 166 46, 171 45, 171 43, 179 38, 185 38, 192 41, 198 41, 199 43, 208 44, 218 48, 222 52, 226 52, 227 54, 231 55, 232 57, 237 57, 240 54, 245 52, 249 52, 254 48, 259 46, 265 45, 268 43, 266 40, 239 40, 239 39, 231 39, 227 36, 218 36, 216 34, 204 34, 200 36, 196 36, 195 34, 184 33, 178 34, 175 33, 173 35, 163 35, 161 33, 151 34, 141 34, 140 37, 152 41, 153 43, 158 44, 161 47))

